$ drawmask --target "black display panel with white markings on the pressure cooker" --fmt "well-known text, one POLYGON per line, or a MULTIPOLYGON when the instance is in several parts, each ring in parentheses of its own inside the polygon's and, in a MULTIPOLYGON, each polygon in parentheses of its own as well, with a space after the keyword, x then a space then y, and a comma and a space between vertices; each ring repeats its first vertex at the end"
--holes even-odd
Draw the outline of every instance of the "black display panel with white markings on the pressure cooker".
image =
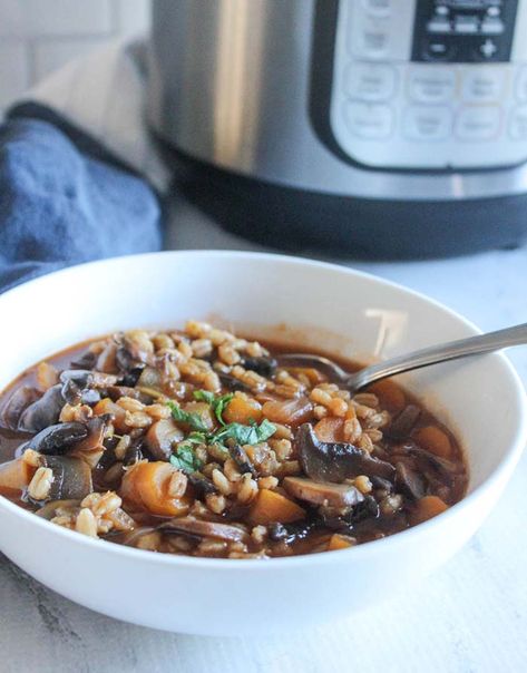
POLYGON ((509 60, 518 0, 418 0, 416 4, 413 61, 509 60))

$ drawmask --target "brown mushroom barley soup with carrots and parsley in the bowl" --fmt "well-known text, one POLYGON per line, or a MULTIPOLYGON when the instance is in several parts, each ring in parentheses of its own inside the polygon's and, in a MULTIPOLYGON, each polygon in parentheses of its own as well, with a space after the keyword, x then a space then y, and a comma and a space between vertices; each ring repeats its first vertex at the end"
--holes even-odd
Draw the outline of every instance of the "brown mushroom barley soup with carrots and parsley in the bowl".
POLYGON ((223 558, 352 547, 462 497, 459 446, 399 387, 350 396, 280 367, 285 350, 191 321, 40 362, 0 398, 0 492, 91 537, 223 558))

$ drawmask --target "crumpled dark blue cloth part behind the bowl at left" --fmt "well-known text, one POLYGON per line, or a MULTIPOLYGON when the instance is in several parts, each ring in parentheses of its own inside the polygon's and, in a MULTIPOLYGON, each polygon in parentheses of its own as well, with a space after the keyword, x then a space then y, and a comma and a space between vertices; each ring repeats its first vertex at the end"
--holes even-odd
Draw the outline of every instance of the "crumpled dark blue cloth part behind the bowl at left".
POLYGON ((49 110, 26 105, 0 126, 0 292, 62 266, 159 250, 160 220, 140 176, 49 110))

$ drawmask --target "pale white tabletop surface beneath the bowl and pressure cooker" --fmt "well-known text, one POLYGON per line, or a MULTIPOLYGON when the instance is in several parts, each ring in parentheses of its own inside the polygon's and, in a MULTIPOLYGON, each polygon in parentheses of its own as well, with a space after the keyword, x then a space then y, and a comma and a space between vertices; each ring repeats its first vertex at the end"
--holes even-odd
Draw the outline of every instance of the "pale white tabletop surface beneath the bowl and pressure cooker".
MULTIPOLYGON (((166 246, 253 248, 182 202, 173 206, 166 246)), ((527 248, 447 261, 349 264, 424 292, 484 330, 527 322, 527 248)), ((509 353, 527 381, 527 348, 509 353)), ((206 638, 117 622, 58 596, 2 558, 0 671, 525 671, 526 484, 527 455, 470 544, 403 601, 280 638, 206 638)), ((86 572, 100 573, 105 581, 104 568, 86 572)))

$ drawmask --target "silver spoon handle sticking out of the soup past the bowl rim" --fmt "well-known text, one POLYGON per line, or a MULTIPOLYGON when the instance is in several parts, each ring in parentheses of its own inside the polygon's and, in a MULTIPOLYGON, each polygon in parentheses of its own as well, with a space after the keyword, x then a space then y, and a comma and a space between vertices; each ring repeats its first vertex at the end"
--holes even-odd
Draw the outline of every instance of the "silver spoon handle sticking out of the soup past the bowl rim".
POLYGON ((509 345, 520 345, 527 343, 527 323, 489 332, 487 334, 478 334, 459 341, 450 341, 441 345, 432 345, 414 351, 409 355, 400 355, 390 360, 384 360, 378 364, 367 367, 348 379, 348 384, 353 390, 364 388, 369 383, 380 381, 387 377, 400 374, 429 364, 438 362, 447 362, 448 360, 457 360, 467 355, 477 355, 479 353, 488 353, 497 351, 509 345))

